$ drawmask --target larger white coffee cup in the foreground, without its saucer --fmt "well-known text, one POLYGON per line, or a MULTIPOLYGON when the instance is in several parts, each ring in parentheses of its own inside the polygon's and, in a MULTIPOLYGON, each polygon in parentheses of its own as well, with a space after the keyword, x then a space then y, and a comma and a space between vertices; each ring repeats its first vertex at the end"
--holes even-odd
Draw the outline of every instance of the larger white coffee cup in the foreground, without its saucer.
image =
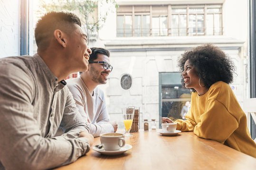
POLYGON ((125 140, 121 133, 101 134, 100 141, 105 150, 118 150, 125 145, 125 140))

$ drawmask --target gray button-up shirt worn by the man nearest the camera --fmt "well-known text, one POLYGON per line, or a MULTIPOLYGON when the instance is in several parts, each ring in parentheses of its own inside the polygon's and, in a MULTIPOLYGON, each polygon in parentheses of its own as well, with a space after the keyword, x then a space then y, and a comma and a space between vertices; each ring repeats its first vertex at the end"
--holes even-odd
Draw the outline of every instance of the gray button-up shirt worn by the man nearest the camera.
POLYGON ((89 151, 78 135, 90 129, 65 85, 38 54, 0 59, 0 169, 54 168, 89 151), (58 127, 65 134, 54 137, 58 127))

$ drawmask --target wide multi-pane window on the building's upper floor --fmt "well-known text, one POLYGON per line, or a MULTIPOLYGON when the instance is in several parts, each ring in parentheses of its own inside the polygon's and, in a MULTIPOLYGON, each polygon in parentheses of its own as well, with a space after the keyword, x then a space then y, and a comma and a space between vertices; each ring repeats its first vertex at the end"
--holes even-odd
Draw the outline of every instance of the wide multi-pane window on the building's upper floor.
POLYGON ((117 37, 222 35, 222 4, 120 5, 117 37))

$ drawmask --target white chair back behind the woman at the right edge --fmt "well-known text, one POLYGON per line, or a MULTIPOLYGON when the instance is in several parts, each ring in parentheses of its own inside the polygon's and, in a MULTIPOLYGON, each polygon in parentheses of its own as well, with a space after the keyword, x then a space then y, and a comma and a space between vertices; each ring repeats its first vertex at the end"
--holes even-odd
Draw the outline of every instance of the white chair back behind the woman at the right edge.
MULTIPOLYGON (((244 103, 244 111, 246 113, 247 116, 247 126, 249 128, 249 131, 251 131, 251 119, 250 119, 250 115, 253 118, 253 121, 256 124, 256 98, 251 98, 251 99, 245 99, 244 103)), ((256 142, 256 138, 254 139, 254 141, 256 142)))

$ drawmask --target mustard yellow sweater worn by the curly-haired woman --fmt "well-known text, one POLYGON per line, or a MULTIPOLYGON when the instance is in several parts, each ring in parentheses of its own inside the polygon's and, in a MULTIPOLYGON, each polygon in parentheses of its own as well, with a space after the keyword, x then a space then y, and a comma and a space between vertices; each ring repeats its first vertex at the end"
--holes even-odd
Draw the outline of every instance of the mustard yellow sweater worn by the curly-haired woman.
POLYGON ((209 91, 191 95, 187 120, 176 120, 177 129, 194 131, 205 139, 212 139, 256 158, 256 144, 247 128, 247 118, 227 83, 218 81, 209 91))

